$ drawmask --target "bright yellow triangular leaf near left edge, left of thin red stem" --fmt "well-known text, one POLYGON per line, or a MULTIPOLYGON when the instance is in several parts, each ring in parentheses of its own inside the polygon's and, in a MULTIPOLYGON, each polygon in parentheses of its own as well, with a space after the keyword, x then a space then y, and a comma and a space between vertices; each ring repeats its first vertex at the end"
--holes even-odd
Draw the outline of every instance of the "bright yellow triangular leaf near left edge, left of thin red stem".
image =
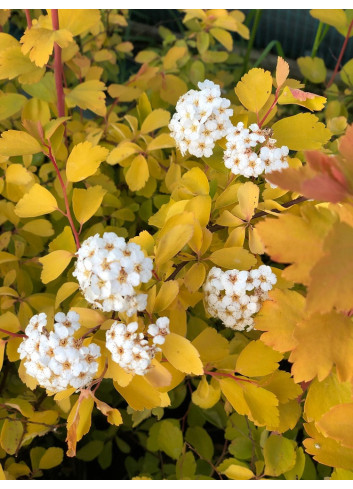
POLYGON ((15 214, 19 217, 37 217, 58 209, 54 195, 45 187, 35 183, 30 191, 17 202, 15 214))

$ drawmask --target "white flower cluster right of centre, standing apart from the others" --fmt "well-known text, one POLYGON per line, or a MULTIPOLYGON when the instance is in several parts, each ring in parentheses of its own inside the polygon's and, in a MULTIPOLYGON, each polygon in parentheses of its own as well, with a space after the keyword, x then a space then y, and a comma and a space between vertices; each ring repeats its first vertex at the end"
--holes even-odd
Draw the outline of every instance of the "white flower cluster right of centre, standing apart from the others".
POLYGON ((204 285, 205 305, 212 317, 238 331, 254 328, 253 315, 259 312, 277 278, 271 268, 261 265, 250 270, 227 270, 213 267, 204 285))

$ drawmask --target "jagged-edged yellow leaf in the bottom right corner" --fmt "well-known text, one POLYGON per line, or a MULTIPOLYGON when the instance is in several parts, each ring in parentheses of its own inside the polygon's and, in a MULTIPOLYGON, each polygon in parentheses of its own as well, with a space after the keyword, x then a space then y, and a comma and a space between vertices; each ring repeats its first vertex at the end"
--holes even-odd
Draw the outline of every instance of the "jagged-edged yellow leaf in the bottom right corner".
POLYGON ((314 423, 304 424, 311 438, 303 441, 305 450, 320 464, 350 470, 353 467, 353 450, 343 447, 333 438, 320 433, 314 423))

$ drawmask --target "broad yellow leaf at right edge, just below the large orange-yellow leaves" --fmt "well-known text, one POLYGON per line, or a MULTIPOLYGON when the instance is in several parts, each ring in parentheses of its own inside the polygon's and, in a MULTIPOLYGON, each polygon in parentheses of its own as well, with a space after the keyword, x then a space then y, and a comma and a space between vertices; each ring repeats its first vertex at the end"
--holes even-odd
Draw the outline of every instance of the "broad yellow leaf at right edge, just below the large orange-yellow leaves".
POLYGON ((305 398, 305 419, 309 422, 318 421, 336 404, 351 402, 352 394, 352 384, 339 382, 334 371, 321 382, 314 379, 305 398))

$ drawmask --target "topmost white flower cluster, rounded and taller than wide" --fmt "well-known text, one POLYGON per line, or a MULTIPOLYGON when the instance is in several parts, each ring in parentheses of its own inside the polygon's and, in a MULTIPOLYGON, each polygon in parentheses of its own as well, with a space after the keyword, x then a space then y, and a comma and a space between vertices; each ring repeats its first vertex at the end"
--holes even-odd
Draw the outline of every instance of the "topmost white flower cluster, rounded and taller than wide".
POLYGON ((232 126, 230 101, 221 97, 221 89, 212 81, 199 82, 200 90, 189 90, 179 98, 176 113, 169 124, 171 136, 182 154, 201 158, 212 155, 215 141, 232 126))

